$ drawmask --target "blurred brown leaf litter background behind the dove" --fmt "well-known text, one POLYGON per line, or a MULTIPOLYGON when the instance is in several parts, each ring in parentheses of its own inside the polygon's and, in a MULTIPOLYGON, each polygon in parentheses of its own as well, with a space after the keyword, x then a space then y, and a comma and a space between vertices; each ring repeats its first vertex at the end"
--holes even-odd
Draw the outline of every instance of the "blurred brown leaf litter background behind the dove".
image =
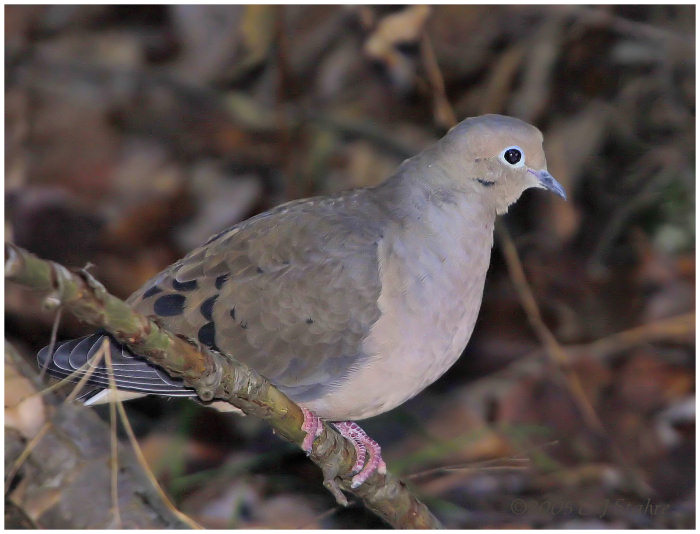
MULTIPOLYGON (((537 125, 569 193, 502 221, 568 364, 497 241, 462 358, 364 428, 448 527, 693 528, 694 6, 6 6, 5 239, 126 297, 222 228, 376 184, 482 113, 537 125)), ((5 306, 33 361, 54 314, 9 284, 5 306)), ((59 339, 87 330, 64 316, 59 339)), ((260 421, 127 408, 206 527, 384 526, 260 421)))

